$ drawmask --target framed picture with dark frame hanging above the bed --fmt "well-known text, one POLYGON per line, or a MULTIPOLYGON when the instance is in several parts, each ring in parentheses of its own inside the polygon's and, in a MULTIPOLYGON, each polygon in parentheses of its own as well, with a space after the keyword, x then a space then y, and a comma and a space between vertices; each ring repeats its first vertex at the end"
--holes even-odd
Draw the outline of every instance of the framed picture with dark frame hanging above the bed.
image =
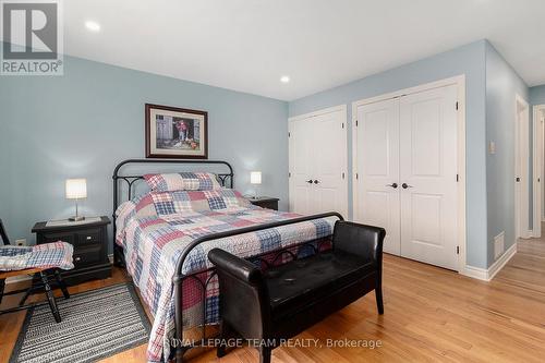
POLYGON ((146 104, 146 158, 208 158, 208 112, 146 104))

